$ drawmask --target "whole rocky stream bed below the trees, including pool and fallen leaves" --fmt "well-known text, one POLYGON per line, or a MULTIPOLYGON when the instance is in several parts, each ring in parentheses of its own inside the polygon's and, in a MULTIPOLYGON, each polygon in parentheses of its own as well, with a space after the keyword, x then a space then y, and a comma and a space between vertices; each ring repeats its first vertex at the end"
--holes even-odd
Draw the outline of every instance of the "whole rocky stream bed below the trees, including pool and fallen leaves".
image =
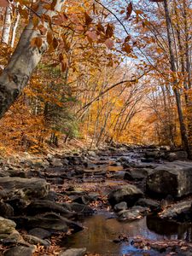
POLYGON ((1 160, 2 255, 192 255, 192 191, 181 177, 186 195, 170 189, 172 168, 192 172, 183 151, 74 151, 1 160), (156 195, 150 178, 162 166, 170 186, 156 195))

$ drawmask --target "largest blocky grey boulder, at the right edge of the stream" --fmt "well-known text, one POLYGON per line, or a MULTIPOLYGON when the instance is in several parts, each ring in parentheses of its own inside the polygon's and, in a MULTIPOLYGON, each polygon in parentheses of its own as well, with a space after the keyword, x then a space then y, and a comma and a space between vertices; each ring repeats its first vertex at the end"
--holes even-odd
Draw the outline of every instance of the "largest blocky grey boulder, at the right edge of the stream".
POLYGON ((192 193, 192 164, 190 162, 175 161, 166 163, 154 169, 148 175, 148 194, 172 195, 181 197, 192 193))

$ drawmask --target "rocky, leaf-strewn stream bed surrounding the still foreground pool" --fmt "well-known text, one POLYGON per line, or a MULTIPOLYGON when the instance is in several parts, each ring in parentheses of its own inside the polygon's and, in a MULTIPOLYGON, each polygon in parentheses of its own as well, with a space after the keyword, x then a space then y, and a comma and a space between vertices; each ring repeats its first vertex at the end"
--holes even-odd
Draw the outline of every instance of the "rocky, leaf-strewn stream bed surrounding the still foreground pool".
MULTIPOLYGON (((113 145, 44 158, 26 154, 2 159, 0 169, 0 253, 5 256, 85 255, 86 248, 66 249, 60 241, 84 229, 80 217, 99 211, 113 212, 120 221, 152 214, 192 220, 192 163, 182 150, 113 145)), ((113 242, 125 241, 119 234, 113 242)), ((148 252, 141 255, 152 255, 151 248, 192 255, 186 241, 155 243, 137 236, 131 245, 148 252)))

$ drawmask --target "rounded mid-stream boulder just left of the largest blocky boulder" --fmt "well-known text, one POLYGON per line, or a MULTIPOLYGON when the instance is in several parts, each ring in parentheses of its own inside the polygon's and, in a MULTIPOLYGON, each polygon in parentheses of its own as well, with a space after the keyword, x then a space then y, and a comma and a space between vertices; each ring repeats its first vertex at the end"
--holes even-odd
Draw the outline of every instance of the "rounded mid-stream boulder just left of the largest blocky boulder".
POLYGON ((114 189, 108 195, 109 203, 114 206, 121 201, 125 201, 128 207, 131 207, 135 202, 143 197, 142 190, 138 189, 136 186, 128 184, 120 186, 118 189, 114 189))

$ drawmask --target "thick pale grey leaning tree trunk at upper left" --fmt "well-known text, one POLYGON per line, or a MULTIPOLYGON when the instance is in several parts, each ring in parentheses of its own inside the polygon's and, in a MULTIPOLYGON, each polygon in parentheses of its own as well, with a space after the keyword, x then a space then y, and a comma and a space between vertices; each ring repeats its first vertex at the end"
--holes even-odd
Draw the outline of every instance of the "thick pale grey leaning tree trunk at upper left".
MULTIPOLYGON (((38 17, 44 14, 49 15, 50 18, 53 17, 61 10, 63 3, 64 0, 57 0, 54 10, 47 10, 44 9, 44 1, 40 2, 37 11, 38 17)), ((48 23, 44 26, 49 29, 48 23)), ((5 67, 0 76, 0 118, 20 95, 21 90, 31 78, 35 67, 38 66, 42 55, 48 49, 46 36, 42 38, 43 44, 40 48, 32 46, 32 38, 38 36, 40 36, 40 32, 38 29, 34 29, 32 20, 30 20, 20 36, 20 41, 9 60, 8 66, 5 67)))

